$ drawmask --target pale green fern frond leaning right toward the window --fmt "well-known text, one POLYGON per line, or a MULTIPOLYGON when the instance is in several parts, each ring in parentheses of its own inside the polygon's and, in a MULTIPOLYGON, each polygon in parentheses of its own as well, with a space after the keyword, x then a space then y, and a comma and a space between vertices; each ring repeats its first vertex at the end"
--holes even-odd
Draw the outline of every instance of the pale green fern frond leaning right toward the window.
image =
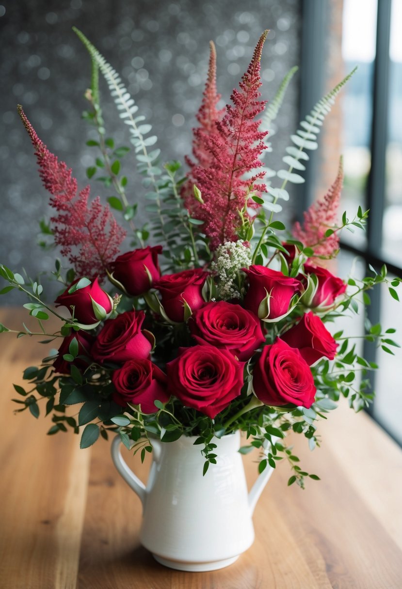
POLYGON ((286 152, 288 155, 285 155, 285 157, 282 158, 282 161, 284 161, 285 164, 288 164, 288 170, 279 170, 276 174, 278 178, 283 180, 281 186, 282 189, 285 188, 286 183, 288 182, 302 184, 305 181, 304 178, 300 176, 300 174, 294 173, 293 170, 305 170, 305 166, 301 163, 300 160, 307 161, 309 160, 309 157, 304 150, 317 149, 317 135, 321 130, 320 127, 322 126, 322 123, 325 120, 327 114, 331 112, 331 107, 335 102, 335 98, 346 82, 350 80, 356 70, 357 67, 355 67, 350 72, 350 74, 348 74, 341 82, 339 82, 335 88, 332 88, 328 94, 325 94, 325 96, 314 105, 314 108, 312 108, 310 113, 305 117, 305 120, 301 121, 299 125, 300 128, 296 131, 296 134, 291 135, 293 145, 286 147, 286 152))

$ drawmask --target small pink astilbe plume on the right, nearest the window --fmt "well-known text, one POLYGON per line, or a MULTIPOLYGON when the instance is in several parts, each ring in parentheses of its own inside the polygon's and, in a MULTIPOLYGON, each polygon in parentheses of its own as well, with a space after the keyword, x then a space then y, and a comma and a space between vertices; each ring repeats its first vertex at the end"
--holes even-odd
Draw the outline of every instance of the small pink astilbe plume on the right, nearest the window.
POLYGON ((293 237, 301 241, 305 247, 311 247, 314 250, 314 257, 308 262, 311 266, 325 267, 326 260, 336 256, 339 250, 338 233, 335 231, 325 237, 325 231, 332 229, 337 223, 343 178, 341 158, 337 178, 327 194, 305 211, 303 226, 298 221, 294 224, 293 237), (322 256, 322 258, 316 256, 322 256))

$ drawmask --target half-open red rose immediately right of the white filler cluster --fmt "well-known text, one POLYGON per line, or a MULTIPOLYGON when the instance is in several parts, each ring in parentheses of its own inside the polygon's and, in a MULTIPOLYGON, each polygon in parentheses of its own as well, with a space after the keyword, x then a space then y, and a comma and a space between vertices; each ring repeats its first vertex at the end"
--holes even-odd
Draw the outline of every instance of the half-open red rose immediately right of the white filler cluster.
POLYGON ((282 319, 289 311, 292 296, 301 290, 301 283, 295 278, 265 266, 243 268, 249 278, 249 287, 244 299, 246 309, 252 310, 260 319, 272 321, 282 319), (266 303, 261 303, 269 295, 266 303))

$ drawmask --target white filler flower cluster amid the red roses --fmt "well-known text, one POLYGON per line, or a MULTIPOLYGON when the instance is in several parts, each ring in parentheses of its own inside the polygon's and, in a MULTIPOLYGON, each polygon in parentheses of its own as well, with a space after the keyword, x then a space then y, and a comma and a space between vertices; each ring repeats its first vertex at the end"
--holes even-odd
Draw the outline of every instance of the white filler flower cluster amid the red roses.
POLYGON ((225 241, 215 252, 211 270, 219 276, 219 295, 222 299, 240 297, 242 279, 240 269, 251 264, 251 247, 248 241, 225 241))

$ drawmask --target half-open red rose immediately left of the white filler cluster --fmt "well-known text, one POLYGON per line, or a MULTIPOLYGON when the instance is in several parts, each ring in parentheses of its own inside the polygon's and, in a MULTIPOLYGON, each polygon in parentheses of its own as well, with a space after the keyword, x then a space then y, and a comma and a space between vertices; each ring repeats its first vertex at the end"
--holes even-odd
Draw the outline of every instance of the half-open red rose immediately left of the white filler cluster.
POLYGON ((162 306, 172 321, 184 321, 184 301, 192 312, 205 305, 202 287, 208 274, 202 269, 184 270, 176 274, 162 276, 154 284, 154 288, 162 294, 162 306))

